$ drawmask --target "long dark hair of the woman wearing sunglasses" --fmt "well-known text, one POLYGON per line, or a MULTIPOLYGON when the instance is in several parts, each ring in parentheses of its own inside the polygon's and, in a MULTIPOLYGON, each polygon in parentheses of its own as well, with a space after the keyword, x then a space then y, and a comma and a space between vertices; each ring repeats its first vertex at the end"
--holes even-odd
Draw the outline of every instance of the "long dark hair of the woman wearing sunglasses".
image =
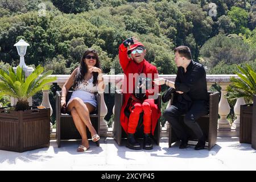
MULTIPOLYGON (((84 59, 87 55, 89 55, 89 53, 93 53, 94 56, 96 57, 96 64, 94 65, 94 67, 101 69, 100 60, 98 59, 98 54, 97 54, 96 50, 94 50, 94 49, 86 50, 84 52, 84 55, 82 55, 82 59, 80 61, 80 66, 77 69, 73 88, 76 88, 80 81, 84 81, 84 76, 88 72, 88 69, 87 69, 87 66, 85 65, 84 59)), ((97 83, 98 83, 98 73, 93 72, 93 85, 95 86, 97 83)))

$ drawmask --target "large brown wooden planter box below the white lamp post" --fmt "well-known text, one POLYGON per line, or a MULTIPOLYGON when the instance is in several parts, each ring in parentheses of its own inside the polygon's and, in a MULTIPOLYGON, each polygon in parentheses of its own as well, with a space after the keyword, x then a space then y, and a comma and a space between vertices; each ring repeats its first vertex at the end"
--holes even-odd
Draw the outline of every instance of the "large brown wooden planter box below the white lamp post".
POLYGON ((23 152, 49 147, 50 110, 0 108, 0 150, 23 152))

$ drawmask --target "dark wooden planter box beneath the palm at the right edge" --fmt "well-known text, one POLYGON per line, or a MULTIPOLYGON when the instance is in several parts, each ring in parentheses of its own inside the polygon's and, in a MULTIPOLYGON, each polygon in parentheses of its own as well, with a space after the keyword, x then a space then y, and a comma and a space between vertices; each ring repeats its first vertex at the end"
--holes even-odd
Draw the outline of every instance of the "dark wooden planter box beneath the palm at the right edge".
POLYGON ((240 106, 240 143, 251 143, 253 104, 240 106))

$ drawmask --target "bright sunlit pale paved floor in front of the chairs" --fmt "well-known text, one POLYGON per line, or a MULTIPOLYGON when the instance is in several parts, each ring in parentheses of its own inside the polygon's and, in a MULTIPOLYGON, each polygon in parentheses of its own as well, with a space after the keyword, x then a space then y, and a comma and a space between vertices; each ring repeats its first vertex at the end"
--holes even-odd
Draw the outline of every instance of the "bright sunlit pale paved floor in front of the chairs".
POLYGON ((218 138, 211 151, 180 150, 179 143, 168 148, 162 138, 153 150, 133 151, 118 146, 113 138, 101 138, 100 147, 90 142, 86 152, 76 152, 80 141, 63 142, 57 148, 23 153, 0 150, 0 170, 256 170, 256 150, 239 138, 218 138))

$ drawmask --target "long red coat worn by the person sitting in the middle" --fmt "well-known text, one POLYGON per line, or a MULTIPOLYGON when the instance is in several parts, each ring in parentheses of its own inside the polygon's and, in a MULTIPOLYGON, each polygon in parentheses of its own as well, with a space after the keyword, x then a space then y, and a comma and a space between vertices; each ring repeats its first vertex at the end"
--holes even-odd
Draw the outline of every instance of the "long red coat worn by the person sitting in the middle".
MULTIPOLYGON (((123 69, 123 73, 125 74, 125 79, 123 80, 123 86, 122 86, 123 104, 121 108, 120 122, 121 122, 121 126, 123 127, 123 130, 125 130, 125 132, 127 133, 129 118, 127 118, 125 115, 125 107, 127 105, 130 95, 133 94, 131 91, 134 90, 134 85, 135 85, 135 78, 134 78, 133 84, 130 84, 130 88, 128 88, 127 85, 129 82, 131 82, 129 80, 129 73, 135 74, 143 70, 142 73, 145 73, 147 77, 154 79, 158 77, 158 70, 154 65, 148 63, 148 61, 146 61, 145 59, 141 63, 136 63, 135 61, 133 61, 133 59, 127 56, 127 48, 123 46, 123 44, 119 46, 119 63, 123 69), (155 73, 157 74, 156 77, 154 76, 155 73)), ((154 82, 152 82, 152 89, 154 89, 154 82)), ((159 93, 160 93, 160 86, 159 86, 159 93)), ((146 90, 146 98, 148 98, 148 96, 153 96, 154 94, 157 94, 157 93, 154 93, 154 92, 152 93, 151 90, 146 90)), ((156 123, 158 122, 158 118, 161 115, 161 111, 154 104, 153 100, 152 101, 147 100, 147 102, 151 105, 151 109, 152 109, 151 133, 152 135, 154 135, 156 123)))

